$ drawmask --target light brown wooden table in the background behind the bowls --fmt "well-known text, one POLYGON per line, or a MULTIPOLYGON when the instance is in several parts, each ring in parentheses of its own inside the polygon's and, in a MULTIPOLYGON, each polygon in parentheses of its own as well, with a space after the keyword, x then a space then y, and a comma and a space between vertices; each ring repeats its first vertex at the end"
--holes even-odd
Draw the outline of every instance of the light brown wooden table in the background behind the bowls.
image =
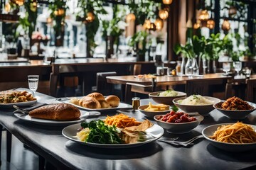
POLYGON ((210 85, 223 85, 225 88, 225 84, 230 81, 230 79, 232 79, 231 76, 224 76, 223 73, 204 74, 198 77, 157 76, 155 79, 139 79, 138 77, 129 75, 107 77, 107 82, 111 84, 128 84, 125 90, 127 93, 124 101, 129 102, 131 100, 131 96, 128 96, 131 95, 129 89, 132 89, 132 86, 136 84, 144 85, 145 87, 151 85, 151 91, 155 91, 157 86, 166 86, 166 89, 168 89, 168 86, 186 84, 186 93, 188 95, 206 95, 209 92, 210 85))

